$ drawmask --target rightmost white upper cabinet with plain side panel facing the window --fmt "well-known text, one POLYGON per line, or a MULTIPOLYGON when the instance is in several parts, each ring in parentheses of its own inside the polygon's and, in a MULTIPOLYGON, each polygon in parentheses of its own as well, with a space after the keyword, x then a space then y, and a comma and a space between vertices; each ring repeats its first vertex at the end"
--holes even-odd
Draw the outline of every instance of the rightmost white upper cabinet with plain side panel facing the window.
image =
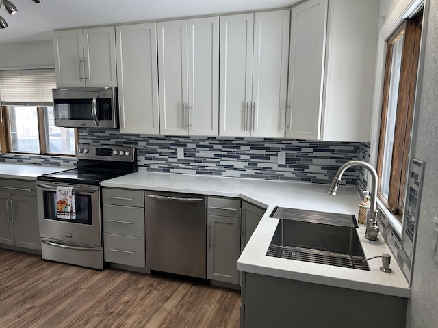
POLYGON ((292 8, 287 137, 370 141, 378 8, 378 0, 292 8))

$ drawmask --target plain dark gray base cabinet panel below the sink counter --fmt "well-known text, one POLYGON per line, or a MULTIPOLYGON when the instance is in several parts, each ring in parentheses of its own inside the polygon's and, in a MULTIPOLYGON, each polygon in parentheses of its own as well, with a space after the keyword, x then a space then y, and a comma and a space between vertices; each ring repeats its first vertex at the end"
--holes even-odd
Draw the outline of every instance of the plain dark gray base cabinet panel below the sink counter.
POLYGON ((407 299, 243 273, 241 327, 405 327, 407 299), (370 310, 371 308, 375 310, 370 310), (381 310, 377 310, 381 309, 381 310), (384 309, 384 310, 383 310, 384 309), (371 311, 367 314, 368 311, 371 311))

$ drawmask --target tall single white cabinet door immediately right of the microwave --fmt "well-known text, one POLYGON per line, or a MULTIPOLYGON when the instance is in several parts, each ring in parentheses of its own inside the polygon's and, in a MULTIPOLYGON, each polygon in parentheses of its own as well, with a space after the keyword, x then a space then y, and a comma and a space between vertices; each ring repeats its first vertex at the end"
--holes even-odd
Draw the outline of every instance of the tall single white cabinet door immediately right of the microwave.
POLYGON ((157 25, 116 27, 120 132, 159 134, 157 25))

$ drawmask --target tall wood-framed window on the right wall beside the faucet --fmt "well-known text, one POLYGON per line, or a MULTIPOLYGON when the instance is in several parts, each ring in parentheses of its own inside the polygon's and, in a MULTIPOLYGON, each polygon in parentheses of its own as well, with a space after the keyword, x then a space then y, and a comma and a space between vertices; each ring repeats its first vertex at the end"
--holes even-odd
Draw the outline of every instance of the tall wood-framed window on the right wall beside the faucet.
POLYGON ((422 11, 389 38, 378 149, 378 196, 401 222, 420 53, 422 11))

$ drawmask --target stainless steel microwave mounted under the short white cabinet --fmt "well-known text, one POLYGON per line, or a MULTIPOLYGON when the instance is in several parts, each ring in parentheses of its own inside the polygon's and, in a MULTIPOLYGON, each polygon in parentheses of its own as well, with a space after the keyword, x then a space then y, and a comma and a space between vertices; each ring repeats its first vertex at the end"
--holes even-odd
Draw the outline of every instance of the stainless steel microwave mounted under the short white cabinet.
POLYGON ((55 126, 118 128, 116 87, 53 89, 55 126))

